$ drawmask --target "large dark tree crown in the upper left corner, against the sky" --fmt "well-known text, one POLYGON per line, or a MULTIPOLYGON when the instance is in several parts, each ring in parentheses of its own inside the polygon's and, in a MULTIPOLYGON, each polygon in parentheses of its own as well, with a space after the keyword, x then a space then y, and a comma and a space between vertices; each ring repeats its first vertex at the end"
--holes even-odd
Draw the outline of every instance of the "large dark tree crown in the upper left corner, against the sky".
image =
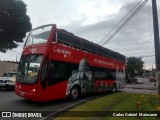
POLYGON ((0 0, 0 52, 16 48, 31 30, 26 7, 21 0, 0 0))

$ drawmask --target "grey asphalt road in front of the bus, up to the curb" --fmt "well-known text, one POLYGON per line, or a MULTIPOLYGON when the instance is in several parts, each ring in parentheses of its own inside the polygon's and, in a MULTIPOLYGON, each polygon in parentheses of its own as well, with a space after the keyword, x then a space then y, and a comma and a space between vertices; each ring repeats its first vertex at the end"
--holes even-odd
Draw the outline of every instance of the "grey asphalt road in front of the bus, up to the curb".
MULTIPOLYGON (((54 100, 48 102, 33 102, 15 95, 13 90, 0 90, 0 112, 42 112, 46 115, 53 115, 57 111, 65 111, 70 107, 80 104, 86 100, 92 99, 95 96, 83 97, 77 101, 69 101, 67 99, 54 100)), ((1 118, 0 118, 1 119, 1 118)))

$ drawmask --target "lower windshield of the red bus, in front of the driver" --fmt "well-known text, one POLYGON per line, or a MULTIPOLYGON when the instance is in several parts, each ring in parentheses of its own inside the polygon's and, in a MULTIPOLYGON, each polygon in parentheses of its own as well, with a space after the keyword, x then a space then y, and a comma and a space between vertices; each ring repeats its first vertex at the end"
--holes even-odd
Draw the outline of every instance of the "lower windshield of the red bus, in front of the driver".
POLYGON ((34 84, 37 82, 41 61, 42 55, 22 56, 17 73, 17 82, 26 84, 34 84))

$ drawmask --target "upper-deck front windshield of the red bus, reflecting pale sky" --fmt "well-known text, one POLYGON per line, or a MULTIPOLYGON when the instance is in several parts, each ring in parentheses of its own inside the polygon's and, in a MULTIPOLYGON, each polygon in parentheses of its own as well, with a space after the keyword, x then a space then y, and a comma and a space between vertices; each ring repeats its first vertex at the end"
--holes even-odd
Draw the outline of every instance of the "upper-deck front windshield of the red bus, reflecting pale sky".
POLYGON ((27 42, 25 46, 39 43, 46 43, 51 31, 52 25, 38 27, 31 30, 28 35, 27 42))

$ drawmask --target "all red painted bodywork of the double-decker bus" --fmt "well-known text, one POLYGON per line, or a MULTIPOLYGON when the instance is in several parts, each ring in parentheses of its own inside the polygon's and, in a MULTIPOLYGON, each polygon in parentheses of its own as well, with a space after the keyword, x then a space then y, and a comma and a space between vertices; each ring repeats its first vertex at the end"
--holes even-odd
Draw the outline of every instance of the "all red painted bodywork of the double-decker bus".
MULTIPOLYGON (((53 25, 47 43, 24 47, 22 54, 23 55, 43 54, 44 56, 42 59, 42 63, 44 62, 46 56, 48 56, 50 60, 57 60, 57 61, 64 61, 64 62, 79 64, 80 60, 82 60, 84 56, 86 56, 86 59, 90 66, 110 68, 115 70, 117 69, 117 66, 119 70, 123 70, 125 68, 125 63, 121 61, 103 57, 96 54, 92 54, 92 53, 88 53, 88 52, 84 52, 82 50, 77 50, 75 48, 65 46, 62 44, 60 45, 58 43, 52 43, 52 39, 55 34, 55 31, 56 31, 56 26, 53 25), (61 51, 65 51, 66 54, 63 54, 63 52, 61 51)), ((41 68, 42 68, 42 65, 40 66, 40 70, 41 68)), ((40 75, 38 78, 40 78, 40 75)), ((101 81, 97 80, 95 83, 95 90, 99 84, 101 84, 102 86, 107 85, 109 87, 112 87, 114 83, 115 83, 114 80, 101 80, 101 81)), ((30 99, 34 101, 47 101, 47 100, 65 98, 66 89, 67 89, 67 80, 58 84, 54 84, 53 86, 49 86, 49 87, 47 86, 45 89, 43 89, 40 84, 40 80, 38 79, 38 82, 34 85, 24 85, 24 84, 16 83, 15 93, 18 96, 24 97, 26 99, 30 99), (19 89, 19 86, 21 86, 20 89, 19 89), (33 91, 33 89, 35 89, 35 92, 31 92, 33 91)), ((102 92, 102 91, 100 90, 99 92, 102 92)))

